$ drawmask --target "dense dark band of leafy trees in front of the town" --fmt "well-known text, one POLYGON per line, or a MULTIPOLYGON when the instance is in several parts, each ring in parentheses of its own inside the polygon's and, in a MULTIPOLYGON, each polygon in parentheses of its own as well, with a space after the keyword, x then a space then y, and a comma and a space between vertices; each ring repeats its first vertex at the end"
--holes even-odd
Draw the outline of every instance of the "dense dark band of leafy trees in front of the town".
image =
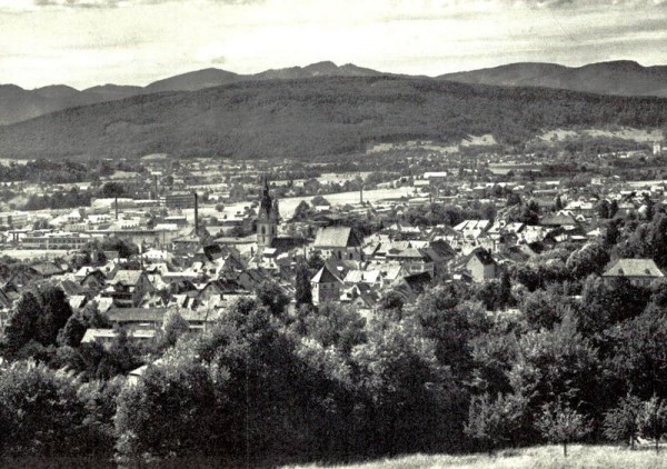
POLYGON ((125 333, 81 343, 104 316, 34 286, 2 335, 0 451, 258 466, 657 441, 667 283, 599 273, 619 253, 665 267, 665 221, 611 220, 614 239, 561 246, 481 286, 444 280, 412 302, 390 292, 370 319, 315 308, 303 286, 295 308, 266 283, 199 335, 171 311, 141 347, 125 333))

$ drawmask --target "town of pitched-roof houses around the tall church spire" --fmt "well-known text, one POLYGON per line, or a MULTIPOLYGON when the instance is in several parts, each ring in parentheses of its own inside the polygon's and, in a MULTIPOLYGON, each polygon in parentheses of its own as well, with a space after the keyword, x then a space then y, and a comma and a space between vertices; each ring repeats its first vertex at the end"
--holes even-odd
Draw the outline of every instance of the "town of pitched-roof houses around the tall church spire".
MULTIPOLYGON (((412 143, 417 154, 428 148, 412 143)), ((661 146, 635 153, 660 158, 661 146)), ((487 154, 487 161, 481 156, 467 163, 434 154, 409 157, 408 167, 426 170, 404 173, 322 172, 322 163, 285 161, 283 174, 303 176, 287 180, 272 177, 266 161, 156 154, 141 160, 141 172, 108 168, 87 206, 77 206, 78 196, 64 209, 0 213, 2 325, 24 288, 48 281, 63 289, 73 311, 92 305, 116 327, 91 328, 83 341, 108 343, 118 328, 151 340, 167 311, 179 311, 193 331, 201 330, 265 282, 293 308, 303 295, 296 290, 300 269, 313 306, 349 305, 371 318, 390 293, 407 303, 436 282, 485 285, 510 272, 516 280, 516 272, 550 259, 549 252, 565 261, 563 249, 569 253, 617 236, 610 222, 616 217, 646 219, 667 188, 667 180, 601 171, 552 179, 535 156, 487 154), (429 162, 436 170, 428 170, 429 162)), ((27 207, 39 204, 37 193, 62 199, 91 186, 3 184, 20 188, 19 197, 10 197, 28 198, 27 207)), ((623 276, 628 260, 618 262, 603 277, 623 276)), ((641 262, 630 269, 636 278, 626 270, 633 282, 648 286, 663 277, 654 259, 641 262)))

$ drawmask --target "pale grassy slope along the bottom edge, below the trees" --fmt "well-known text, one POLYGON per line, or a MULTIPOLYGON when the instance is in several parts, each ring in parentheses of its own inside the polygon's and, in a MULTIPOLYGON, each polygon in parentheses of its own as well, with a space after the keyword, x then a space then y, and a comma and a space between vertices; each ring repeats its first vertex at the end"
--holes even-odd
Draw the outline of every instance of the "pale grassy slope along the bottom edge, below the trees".
POLYGON ((341 466, 290 466, 289 469, 654 469, 667 468, 667 450, 659 455, 649 448, 630 451, 615 446, 568 447, 568 456, 563 456, 563 447, 545 446, 519 450, 499 451, 494 456, 469 455, 415 455, 379 461, 341 466))

